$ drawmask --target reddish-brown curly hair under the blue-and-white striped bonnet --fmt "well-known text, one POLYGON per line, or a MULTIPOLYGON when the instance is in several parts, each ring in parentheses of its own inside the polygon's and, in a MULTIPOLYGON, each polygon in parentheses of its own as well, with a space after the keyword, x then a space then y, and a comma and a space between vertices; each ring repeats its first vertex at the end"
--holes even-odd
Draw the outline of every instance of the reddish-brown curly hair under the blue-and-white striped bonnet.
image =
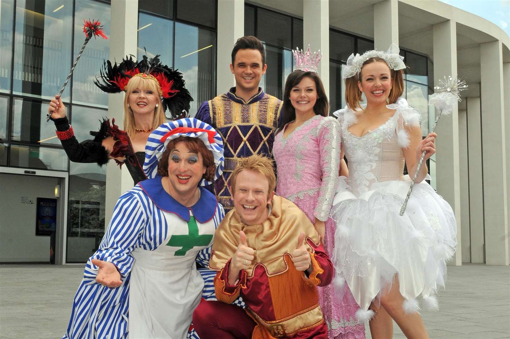
POLYGON ((179 138, 172 139, 168 142, 168 145, 166 146, 166 149, 158 162, 158 174, 162 177, 168 177, 168 159, 170 158, 170 153, 175 149, 175 144, 181 141, 186 143, 186 147, 190 151, 202 155, 203 166, 207 168, 206 173, 202 176, 202 179, 212 181, 216 172, 213 152, 207 149, 202 140, 189 136, 180 136, 179 138))

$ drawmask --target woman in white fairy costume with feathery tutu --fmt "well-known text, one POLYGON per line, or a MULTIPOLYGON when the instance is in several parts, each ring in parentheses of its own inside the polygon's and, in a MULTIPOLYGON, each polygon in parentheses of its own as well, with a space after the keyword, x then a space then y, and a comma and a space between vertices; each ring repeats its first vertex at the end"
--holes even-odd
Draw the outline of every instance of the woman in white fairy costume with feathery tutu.
POLYGON ((444 286, 446 260, 455 251, 451 207, 418 173, 407 209, 399 215, 423 151, 436 152, 436 133, 423 140, 420 112, 403 99, 403 57, 388 52, 351 55, 345 69, 347 107, 335 112, 342 157, 349 177, 340 177, 331 216, 337 223, 333 262, 336 284, 347 282, 360 305, 359 321, 370 321, 373 338, 393 336, 393 322, 407 337, 428 337, 417 297, 437 309, 436 289, 444 286), (360 105, 362 93, 366 106, 360 105), (375 312, 375 313, 374 313, 375 312))

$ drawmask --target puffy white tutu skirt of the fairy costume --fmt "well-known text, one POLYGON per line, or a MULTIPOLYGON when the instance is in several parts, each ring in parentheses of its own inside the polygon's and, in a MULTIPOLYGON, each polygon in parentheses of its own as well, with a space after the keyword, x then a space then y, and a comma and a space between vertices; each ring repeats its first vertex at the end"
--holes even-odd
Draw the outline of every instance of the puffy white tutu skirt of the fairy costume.
POLYGON ((444 287, 446 261, 457 244, 450 205, 423 181, 414 186, 400 216, 409 176, 374 183, 359 197, 350 191, 346 179, 339 178, 331 209, 336 222, 332 259, 336 284, 345 279, 361 307, 358 319, 370 318, 370 303, 389 291, 395 275, 406 312, 419 310, 416 298, 420 295, 427 308, 437 309, 436 290, 444 287))

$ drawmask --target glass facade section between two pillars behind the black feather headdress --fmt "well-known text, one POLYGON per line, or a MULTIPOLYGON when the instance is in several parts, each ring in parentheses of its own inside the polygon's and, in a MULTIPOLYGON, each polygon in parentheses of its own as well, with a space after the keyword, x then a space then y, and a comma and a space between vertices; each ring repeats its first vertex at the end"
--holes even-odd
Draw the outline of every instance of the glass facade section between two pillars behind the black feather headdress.
POLYGON ((138 58, 160 54, 161 62, 182 72, 194 116, 216 95, 216 1, 177 0, 163 14, 152 12, 152 1, 138 3, 138 58))

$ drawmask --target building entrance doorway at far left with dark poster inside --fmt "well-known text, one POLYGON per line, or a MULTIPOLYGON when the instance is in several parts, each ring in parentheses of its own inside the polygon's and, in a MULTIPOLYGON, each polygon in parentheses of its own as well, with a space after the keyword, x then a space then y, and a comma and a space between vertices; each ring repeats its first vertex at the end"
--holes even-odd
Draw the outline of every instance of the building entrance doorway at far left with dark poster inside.
POLYGON ((67 177, 0 167, 0 262, 63 263, 67 177))

